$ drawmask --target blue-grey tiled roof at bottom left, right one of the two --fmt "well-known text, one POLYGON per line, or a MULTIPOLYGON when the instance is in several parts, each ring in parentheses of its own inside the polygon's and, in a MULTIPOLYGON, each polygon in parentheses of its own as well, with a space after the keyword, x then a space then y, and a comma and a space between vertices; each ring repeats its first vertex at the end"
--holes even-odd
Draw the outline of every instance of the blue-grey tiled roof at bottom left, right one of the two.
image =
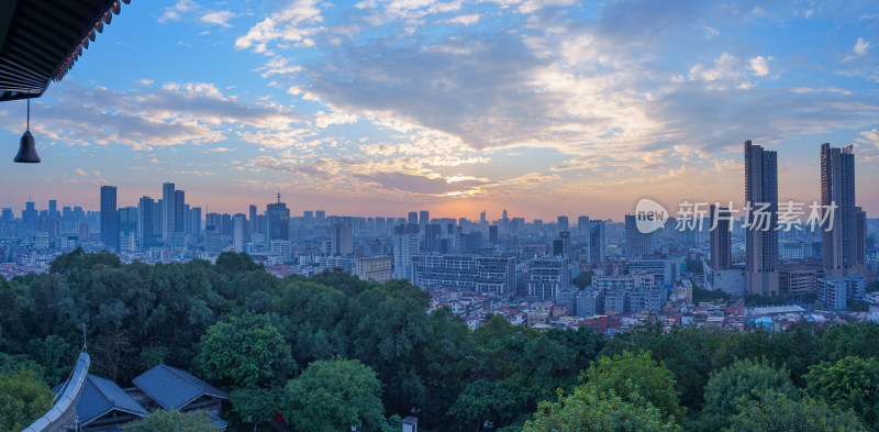
POLYGON ((229 399, 225 391, 168 365, 158 365, 132 383, 166 410, 179 410, 204 395, 229 399))

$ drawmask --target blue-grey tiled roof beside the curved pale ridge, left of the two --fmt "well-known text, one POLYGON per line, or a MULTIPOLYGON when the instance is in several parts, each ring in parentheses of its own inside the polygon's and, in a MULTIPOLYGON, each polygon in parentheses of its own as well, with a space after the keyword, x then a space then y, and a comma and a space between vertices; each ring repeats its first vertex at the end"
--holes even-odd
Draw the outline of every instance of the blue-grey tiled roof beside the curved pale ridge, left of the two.
MULTIPOLYGON (((55 387, 53 390, 57 392, 60 387, 55 387)), ((115 383, 89 375, 82 386, 82 396, 76 406, 76 414, 80 424, 88 424, 113 410, 138 417, 146 416, 144 408, 115 383)))

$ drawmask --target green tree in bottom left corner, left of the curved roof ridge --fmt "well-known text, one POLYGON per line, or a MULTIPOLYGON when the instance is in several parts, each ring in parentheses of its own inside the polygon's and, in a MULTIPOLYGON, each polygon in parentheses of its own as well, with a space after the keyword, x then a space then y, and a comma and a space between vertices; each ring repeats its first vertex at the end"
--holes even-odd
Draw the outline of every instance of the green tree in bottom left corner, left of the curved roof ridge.
POLYGON ((21 431, 52 408, 55 395, 33 370, 0 374, 0 431, 21 431))

